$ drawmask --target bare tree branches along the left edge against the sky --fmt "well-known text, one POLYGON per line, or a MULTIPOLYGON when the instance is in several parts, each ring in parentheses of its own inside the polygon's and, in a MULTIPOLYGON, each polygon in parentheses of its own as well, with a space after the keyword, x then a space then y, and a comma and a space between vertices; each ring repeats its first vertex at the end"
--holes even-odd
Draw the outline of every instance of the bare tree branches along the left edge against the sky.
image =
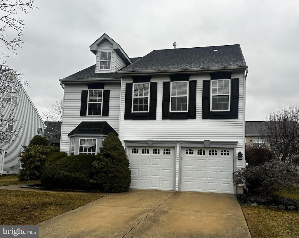
MULTIPOLYGON (((0 47, 6 46, 15 55, 17 55, 16 49, 25 43, 22 40, 25 23, 18 17, 18 14, 28 13, 30 8, 37 8, 33 1, 0 0, 0 12, 2 13, 2 16, 0 15, 0 47)), ((22 77, 18 71, 9 69, 3 57, 6 57, 4 51, 0 52, 0 61, 2 61, 0 63, 0 145, 12 142, 18 135, 20 128, 9 130, 8 127, 10 122, 16 121, 13 116, 16 107, 14 102, 19 97, 16 89, 27 84, 26 81, 21 81, 22 77)))

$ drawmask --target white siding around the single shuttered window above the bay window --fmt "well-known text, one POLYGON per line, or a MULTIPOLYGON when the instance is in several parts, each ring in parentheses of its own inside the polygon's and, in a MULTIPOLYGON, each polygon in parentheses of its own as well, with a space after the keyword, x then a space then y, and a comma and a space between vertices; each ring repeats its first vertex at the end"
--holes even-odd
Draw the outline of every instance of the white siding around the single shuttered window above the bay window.
POLYGON ((68 134, 82 121, 108 122, 117 133, 119 131, 120 84, 105 84, 104 86, 104 90, 110 90, 109 116, 105 117, 80 116, 82 90, 88 90, 86 84, 65 85, 60 151, 69 153, 70 138, 68 134))

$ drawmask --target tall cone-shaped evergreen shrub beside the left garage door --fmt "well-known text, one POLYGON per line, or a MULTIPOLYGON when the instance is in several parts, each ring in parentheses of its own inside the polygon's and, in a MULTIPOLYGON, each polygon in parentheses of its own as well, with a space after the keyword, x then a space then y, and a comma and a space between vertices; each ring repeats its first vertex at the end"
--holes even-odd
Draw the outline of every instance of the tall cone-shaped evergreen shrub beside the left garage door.
POLYGON ((93 163, 93 181, 98 189, 107 192, 126 192, 131 184, 129 160, 120 140, 110 133, 93 163))

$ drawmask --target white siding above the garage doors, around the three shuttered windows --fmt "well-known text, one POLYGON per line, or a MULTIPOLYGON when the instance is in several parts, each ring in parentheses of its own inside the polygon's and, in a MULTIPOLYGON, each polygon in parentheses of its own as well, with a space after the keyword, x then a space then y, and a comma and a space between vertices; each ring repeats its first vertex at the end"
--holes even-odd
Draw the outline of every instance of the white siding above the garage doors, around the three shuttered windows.
MULTIPOLYGON (((231 78, 239 78, 238 119, 202 119, 202 81, 210 80, 210 75, 191 75, 196 80, 196 119, 162 120, 163 81, 169 77, 153 76, 151 82, 157 82, 157 119, 125 120, 125 88, 132 78, 123 78, 121 92, 120 140, 192 140, 192 141, 237 141, 237 151, 243 154, 244 134, 244 75, 233 73, 231 78)), ((208 152, 206 151, 206 154, 208 152)), ((197 153, 195 153, 197 154, 197 153)), ((243 167, 243 161, 237 161, 237 167, 243 167)))

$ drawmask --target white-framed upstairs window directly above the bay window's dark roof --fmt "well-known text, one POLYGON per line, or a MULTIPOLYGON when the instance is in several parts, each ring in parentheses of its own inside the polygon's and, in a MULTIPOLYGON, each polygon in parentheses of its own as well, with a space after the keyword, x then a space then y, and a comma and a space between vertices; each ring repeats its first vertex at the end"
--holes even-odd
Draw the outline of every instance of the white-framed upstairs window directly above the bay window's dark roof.
POLYGON ((94 89, 88 90, 88 107, 87 107, 87 115, 102 115, 102 107, 103 107, 103 90, 102 89, 94 89))

